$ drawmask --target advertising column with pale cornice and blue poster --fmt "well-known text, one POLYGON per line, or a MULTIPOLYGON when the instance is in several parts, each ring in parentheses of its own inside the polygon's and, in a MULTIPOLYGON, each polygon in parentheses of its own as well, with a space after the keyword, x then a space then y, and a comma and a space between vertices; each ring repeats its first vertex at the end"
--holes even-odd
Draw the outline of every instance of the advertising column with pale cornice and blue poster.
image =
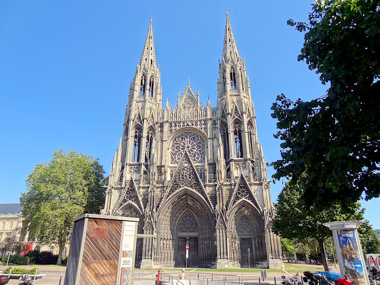
POLYGON ((356 285, 369 285, 366 278, 366 264, 358 235, 358 226, 362 222, 329 222, 323 225, 332 230, 338 255, 340 275, 348 275, 356 285))

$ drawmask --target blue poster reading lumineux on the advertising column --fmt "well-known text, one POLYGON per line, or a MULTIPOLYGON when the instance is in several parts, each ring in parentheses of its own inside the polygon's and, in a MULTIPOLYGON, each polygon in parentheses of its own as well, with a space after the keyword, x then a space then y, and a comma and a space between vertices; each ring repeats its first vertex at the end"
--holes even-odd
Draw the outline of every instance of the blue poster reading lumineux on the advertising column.
POLYGON ((350 276, 356 285, 366 285, 366 267, 360 258, 359 244, 355 230, 337 230, 340 256, 344 274, 350 276))

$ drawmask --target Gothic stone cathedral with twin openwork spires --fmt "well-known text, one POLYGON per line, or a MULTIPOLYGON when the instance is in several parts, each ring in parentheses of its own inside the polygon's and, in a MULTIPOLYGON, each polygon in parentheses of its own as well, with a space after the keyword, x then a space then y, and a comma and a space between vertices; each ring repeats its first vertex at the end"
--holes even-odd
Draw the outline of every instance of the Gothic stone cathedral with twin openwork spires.
MULTIPOLYGON (((217 106, 184 82, 163 101, 152 17, 102 214, 138 217, 135 266, 279 268, 280 239, 244 59, 226 14, 217 106), (248 261, 249 260, 249 261, 248 261), (250 262, 250 264, 248 264, 250 262)), ((216 75, 216 74, 215 74, 216 75)))

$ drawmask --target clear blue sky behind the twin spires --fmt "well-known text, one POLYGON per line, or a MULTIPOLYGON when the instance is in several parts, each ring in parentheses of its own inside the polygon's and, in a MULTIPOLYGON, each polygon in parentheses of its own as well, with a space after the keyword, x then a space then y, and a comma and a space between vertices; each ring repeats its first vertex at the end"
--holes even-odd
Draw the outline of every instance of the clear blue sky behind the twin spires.
MULTIPOLYGON (((25 178, 55 149, 100 159, 108 172, 122 133, 133 78, 153 14, 163 97, 174 103, 187 78, 216 104, 225 7, 250 78, 267 162, 279 158, 270 107, 276 95, 304 100, 327 89, 297 62, 312 1, 1 1, 0 203, 17 203, 25 178), (141 3, 137 5, 137 3, 141 3)), ((203 100, 202 100, 203 99, 203 100)), ((268 169, 273 174, 273 169, 268 169)), ((272 185, 275 201, 283 185, 272 185)), ((380 228, 379 199, 364 202, 380 228)))

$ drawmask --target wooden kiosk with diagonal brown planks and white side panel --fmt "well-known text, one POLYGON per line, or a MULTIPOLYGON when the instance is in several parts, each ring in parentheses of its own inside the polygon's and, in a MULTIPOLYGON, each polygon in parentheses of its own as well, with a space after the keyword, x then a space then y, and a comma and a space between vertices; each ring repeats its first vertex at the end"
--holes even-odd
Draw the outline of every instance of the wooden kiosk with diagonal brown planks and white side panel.
POLYGON ((74 219, 65 285, 130 285, 138 218, 83 214, 74 219))

